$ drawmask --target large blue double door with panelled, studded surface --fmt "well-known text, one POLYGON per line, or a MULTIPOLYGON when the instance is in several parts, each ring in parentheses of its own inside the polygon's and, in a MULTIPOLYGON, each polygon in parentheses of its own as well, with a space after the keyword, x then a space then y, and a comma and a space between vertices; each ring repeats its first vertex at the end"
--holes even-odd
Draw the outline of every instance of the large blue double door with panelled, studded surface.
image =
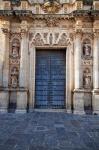
POLYGON ((64 108, 65 50, 37 50, 35 106, 64 108))

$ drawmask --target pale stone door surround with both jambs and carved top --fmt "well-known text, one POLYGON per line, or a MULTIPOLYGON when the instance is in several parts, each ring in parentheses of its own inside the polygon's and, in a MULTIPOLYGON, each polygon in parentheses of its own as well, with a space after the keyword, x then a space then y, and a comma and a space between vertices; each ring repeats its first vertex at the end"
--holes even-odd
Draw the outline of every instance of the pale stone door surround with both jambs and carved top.
POLYGON ((73 91, 73 42, 66 32, 35 32, 29 33, 30 82, 29 109, 35 104, 35 62, 36 49, 66 49, 66 111, 72 111, 73 91))

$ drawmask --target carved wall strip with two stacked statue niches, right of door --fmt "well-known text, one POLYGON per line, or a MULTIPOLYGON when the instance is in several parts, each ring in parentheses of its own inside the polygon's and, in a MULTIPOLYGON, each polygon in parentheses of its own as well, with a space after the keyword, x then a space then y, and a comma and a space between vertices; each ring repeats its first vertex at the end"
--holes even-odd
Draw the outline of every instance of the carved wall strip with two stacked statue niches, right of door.
POLYGON ((82 75, 84 89, 92 89, 92 56, 91 40, 85 38, 82 42, 82 75))

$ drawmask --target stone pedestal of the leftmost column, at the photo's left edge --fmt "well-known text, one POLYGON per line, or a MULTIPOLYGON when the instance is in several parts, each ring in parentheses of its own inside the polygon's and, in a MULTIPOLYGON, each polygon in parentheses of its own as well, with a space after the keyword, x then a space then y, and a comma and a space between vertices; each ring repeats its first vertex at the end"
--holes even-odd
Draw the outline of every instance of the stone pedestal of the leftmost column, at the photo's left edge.
POLYGON ((0 112, 8 111, 9 92, 0 91, 0 112))

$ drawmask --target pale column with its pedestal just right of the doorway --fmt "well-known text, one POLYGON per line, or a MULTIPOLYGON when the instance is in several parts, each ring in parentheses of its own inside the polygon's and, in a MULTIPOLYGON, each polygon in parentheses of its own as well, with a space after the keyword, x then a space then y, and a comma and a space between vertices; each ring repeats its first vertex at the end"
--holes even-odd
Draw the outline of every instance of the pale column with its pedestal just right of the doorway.
POLYGON ((82 52, 82 43, 81 43, 81 33, 76 33, 75 45, 74 45, 74 113, 83 114, 84 113, 84 100, 82 88, 82 75, 81 75, 81 52, 82 52))

